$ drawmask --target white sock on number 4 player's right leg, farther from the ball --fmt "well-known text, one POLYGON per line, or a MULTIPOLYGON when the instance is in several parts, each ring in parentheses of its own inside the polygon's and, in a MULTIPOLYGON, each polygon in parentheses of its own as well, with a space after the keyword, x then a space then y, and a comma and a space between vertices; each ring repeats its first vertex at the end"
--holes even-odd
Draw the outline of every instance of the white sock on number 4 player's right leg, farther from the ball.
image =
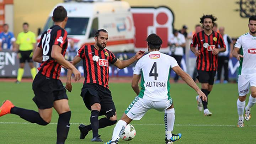
POLYGON ((170 110, 165 110, 164 121, 165 121, 165 138, 171 139, 172 130, 174 129, 175 121, 175 110, 171 108, 170 110))

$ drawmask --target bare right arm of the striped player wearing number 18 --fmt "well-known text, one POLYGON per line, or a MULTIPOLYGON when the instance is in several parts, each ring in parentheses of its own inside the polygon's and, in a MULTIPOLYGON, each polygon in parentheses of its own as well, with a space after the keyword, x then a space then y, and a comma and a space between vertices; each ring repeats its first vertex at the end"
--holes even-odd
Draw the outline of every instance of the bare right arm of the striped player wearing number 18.
POLYGON ((71 69, 72 72, 75 75, 75 81, 80 80, 81 78, 81 73, 75 68, 75 66, 71 63, 69 63, 69 61, 65 60, 65 58, 62 55, 62 48, 58 45, 53 45, 52 47, 52 53, 51 56, 54 60, 57 61, 57 63, 59 63, 60 65, 65 66, 68 69, 71 69))

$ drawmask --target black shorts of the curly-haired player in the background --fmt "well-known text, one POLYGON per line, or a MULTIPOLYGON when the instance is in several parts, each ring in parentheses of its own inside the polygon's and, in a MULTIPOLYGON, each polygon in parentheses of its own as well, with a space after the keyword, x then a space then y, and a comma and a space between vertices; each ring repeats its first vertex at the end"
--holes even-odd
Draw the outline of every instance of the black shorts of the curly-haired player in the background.
POLYGON ((197 79, 199 80, 200 83, 208 83, 209 85, 214 84, 216 71, 197 70, 197 73, 198 73, 197 79))

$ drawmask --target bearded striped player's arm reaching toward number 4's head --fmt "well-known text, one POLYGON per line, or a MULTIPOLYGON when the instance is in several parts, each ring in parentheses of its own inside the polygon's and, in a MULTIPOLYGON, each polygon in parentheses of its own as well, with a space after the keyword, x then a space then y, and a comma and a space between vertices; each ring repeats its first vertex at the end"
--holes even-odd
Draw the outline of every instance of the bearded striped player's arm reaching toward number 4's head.
POLYGON ((143 55, 144 55, 145 51, 140 50, 139 52, 137 52, 134 57, 127 59, 127 60, 119 60, 117 59, 117 61, 114 63, 114 65, 119 68, 119 69, 123 69, 126 68, 127 66, 129 66, 130 64, 134 63, 136 60, 140 59, 143 55))

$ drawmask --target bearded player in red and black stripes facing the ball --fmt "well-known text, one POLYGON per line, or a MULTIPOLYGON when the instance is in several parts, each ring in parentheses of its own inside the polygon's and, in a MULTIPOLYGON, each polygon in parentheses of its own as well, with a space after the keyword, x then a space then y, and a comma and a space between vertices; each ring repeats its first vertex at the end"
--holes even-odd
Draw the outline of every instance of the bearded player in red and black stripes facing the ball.
MULTIPOLYGON (((84 64, 84 85, 81 91, 81 97, 87 109, 91 111, 88 126, 80 124, 80 139, 84 139, 90 130, 92 130, 92 142, 102 142, 98 135, 98 129, 111 126, 117 122, 116 108, 112 100, 111 92, 108 87, 108 66, 109 63, 123 69, 144 55, 144 51, 139 51, 134 57, 128 60, 119 60, 105 47, 107 46, 108 33, 106 30, 98 30, 95 33, 95 44, 82 46, 73 59, 73 64, 80 60, 84 64), (98 116, 105 115, 105 118, 98 120, 98 116)), ((66 89, 71 91, 72 86, 71 71, 68 70, 66 89)))

